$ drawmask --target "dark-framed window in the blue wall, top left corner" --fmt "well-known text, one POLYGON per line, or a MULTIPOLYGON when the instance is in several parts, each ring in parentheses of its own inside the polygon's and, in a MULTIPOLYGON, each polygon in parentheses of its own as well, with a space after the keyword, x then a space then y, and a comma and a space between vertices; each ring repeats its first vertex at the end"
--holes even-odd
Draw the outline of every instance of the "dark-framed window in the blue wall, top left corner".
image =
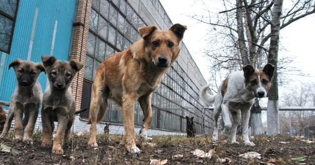
POLYGON ((0 0, 0 51, 10 53, 18 0, 0 0))

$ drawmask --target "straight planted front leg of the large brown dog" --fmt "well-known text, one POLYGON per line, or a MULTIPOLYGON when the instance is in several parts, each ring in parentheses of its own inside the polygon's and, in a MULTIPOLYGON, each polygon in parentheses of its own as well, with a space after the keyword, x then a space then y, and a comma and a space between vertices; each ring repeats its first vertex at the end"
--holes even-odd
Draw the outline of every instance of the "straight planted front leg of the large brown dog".
POLYGON ((134 95, 125 94, 123 97, 123 118, 125 126, 125 147, 131 153, 139 153, 140 149, 136 146, 134 136, 134 95))

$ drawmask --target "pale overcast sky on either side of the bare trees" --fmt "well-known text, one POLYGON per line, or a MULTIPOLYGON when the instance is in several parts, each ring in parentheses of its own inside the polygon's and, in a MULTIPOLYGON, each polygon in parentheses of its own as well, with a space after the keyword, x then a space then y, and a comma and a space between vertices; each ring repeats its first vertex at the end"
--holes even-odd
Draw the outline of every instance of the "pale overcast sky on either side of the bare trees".
MULTIPOLYGON (((209 62, 204 55, 207 49, 207 32, 209 26, 198 23, 189 18, 190 15, 208 15, 204 10, 205 5, 200 0, 160 0, 172 22, 188 26, 184 35, 184 43, 195 60, 197 66, 202 72, 204 78, 208 81, 210 78, 209 62)), ((205 0, 206 6, 212 12, 222 11, 221 0, 205 0)), ((284 2, 285 5, 285 2, 284 2)), ((315 80, 315 14, 303 18, 288 27, 281 30, 281 45, 286 51, 279 52, 279 57, 295 57, 290 65, 301 69, 303 73, 310 74, 308 77, 293 76, 292 84, 298 82, 314 82, 315 80)), ((208 35, 209 36, 209 35, 208 35)))

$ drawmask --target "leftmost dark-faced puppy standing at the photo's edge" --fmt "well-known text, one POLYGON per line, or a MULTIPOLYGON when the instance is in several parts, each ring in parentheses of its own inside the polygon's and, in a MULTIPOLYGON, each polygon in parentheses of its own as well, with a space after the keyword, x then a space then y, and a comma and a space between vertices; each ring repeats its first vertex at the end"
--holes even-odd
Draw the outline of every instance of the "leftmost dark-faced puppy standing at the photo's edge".
POLYGON ((45 69, 41 63, 22 61, 20 59, 12 61, 9 69, 11 67, 15 71, 17 86, 10 100, 7 120, 5 121, 0 137, 7 134, 13 117, 15 117, 14 140, 19 141, 23 139, 26 143, 32 143, 32 134, 38 115, 38 108, 41 106, 43 98, 37 77, 42 71, 45 72, 45 69))

